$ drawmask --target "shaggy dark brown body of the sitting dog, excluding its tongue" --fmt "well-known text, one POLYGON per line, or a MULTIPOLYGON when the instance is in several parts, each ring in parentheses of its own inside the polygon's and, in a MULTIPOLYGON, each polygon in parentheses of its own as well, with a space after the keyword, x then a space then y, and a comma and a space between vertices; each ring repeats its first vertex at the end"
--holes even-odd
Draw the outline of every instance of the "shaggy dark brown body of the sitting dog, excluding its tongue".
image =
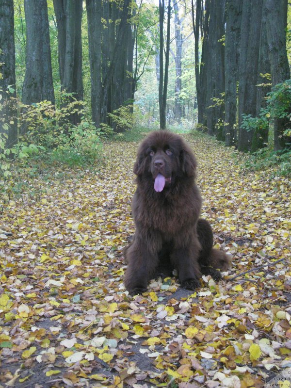
POLYGON ((146 291, 157 273, 178 270, 181 287, 194 290, 201 274, 220 279, 230 260, 213 249, 208 221, 199 218, 201 195, 195 184, 196 160, 177 134, 151 132, 140 145, 133 172, 137 189, 132 199, 136 226, 133 241, 125 249, 129 293, 146 291), (154 189, 158 174, 165 177, 161 192, 154 189))

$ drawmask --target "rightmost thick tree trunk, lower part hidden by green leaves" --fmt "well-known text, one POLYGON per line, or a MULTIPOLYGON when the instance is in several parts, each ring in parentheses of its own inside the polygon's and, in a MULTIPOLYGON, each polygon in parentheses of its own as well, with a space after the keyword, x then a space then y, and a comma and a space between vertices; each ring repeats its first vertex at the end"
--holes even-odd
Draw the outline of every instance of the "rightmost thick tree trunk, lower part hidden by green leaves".
MULTIPOLYGON (((290 79, 290 68, 286 51, 287 0, 264 0, 266 28, 271 64, 272 86, 290 79)), ((287 118, 274 119, 274 148, 284 149, 291 144, 291 136, 284 136, 287 118)))

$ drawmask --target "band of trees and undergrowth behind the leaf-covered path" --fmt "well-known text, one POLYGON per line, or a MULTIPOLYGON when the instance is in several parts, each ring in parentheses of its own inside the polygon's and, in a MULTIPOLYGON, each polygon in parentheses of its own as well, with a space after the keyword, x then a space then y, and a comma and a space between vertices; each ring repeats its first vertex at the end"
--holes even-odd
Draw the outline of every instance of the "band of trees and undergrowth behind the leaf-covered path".
POLYGON ((290 15, 287 0, 2 0, 2 161, 141 126, 282 158, 290 15))

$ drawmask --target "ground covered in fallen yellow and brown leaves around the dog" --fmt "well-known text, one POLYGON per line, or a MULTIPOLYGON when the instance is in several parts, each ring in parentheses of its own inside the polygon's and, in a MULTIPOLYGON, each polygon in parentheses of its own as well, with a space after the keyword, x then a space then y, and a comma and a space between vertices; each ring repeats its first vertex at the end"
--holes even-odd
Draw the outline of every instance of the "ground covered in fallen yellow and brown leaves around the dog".
POLYGON ((0 387, 247 388, 291 371, 290 181, 187 140, 203 216, 233 255, 225 279, 125 291, 137 143, 106 145, 98 172, 30 178, 0 207, 0 387))

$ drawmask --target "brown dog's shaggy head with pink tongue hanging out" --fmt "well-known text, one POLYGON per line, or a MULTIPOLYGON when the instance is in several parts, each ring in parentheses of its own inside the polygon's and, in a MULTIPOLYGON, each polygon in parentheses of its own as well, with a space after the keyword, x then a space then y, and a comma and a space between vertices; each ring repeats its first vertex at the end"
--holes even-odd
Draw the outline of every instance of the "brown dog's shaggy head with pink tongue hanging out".
POLYGON ((177 178, 194 177, 196 160, 189 146, 175 133, 151 132, 137 153, 133 172, 152 179, 156 192, 175 185, 177 178))

